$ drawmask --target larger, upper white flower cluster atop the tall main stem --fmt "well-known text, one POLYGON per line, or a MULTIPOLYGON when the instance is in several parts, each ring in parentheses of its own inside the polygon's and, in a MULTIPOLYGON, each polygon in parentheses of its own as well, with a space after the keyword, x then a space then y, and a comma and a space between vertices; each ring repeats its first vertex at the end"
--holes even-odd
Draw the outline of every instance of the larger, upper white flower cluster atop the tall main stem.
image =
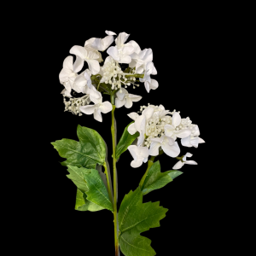
POLYGON ((69 55, 63 62, 63 68, 59 74, 61 84, 65 89, 61 91, 64 96, 65 111, 82 115, 94 113, 94 118, 102 122, 102 114, 108 113, 113 106, 110 102, 102 102, 102 93, 113 93, 116 90, 115 106, 116 108, 131 108, 132 102, 138 102, 142 96, 129 94, 125 88, 132 84, 133 88, 139 86, 137 82, 143 82, 146 90, 158 88, 158 82, 150 78, 150 75, 157 73, 153 63, 152 49, 141 49, 133 40, 126 43, 129 34, 119 33, 113 43, 114 32, 106 31, 108 36, 105 38, 90 38, 83 46, 74 45, 70 49, 70 54, 76 56, 73 62, 73 56, 69 55), (109 48, 108 48, 109 47, 109 48), (100 66, 102 54, 100 51, 107 50, 108 57, 100 66), (81 72, 84 67, 84 61, 88 68, 81 72), (120 63, 129 64, 129 67, 123 71, 120 63), (81 73, 79 73, 81 72, 81 73), (73 98, 72 90, 83 93, 80 98, 73 98), (66 97, 69 101, 66 101, 66 97), (89 105, 93 102, 94 105, 89 105))

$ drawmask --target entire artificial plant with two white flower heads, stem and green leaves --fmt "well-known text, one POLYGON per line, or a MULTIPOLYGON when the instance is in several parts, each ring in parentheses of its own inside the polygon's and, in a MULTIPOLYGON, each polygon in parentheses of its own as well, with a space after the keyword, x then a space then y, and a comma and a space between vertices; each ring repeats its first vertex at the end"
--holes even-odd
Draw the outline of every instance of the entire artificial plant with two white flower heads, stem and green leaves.
POLYGON ((194 160, 188 160, 192 157, 189 152, 179 155, 178 141, 187 148, 197 148, 205 142, 199 137, 198 125, 193 124, 189 117, 182 118, 176 110, 171 112, 161 104, 154 106, 149 103, 128 114, 131 123, 124 127, 122 136, 117 137, 118 120, 114 118, 114 112, 119 108, 132 108, 142 99, 142 96, 129 93, 129 87, 135 89, 143 83, 145 93, 149 93, 159 84, 151 78, 157 74, 152 49, 142 50, 137 42, 127 42, 130 35, 125 32, 118 36, 114 32, 106 33, 105 38, 90 38, 84 46, 73 46, 70 49, 72 55, 63 62, 59 78, 64 86, 61 94, 65 111, 79 116, 93 114, 99 122, 103 120, 102 113, 111 113, 112 145, 107 145, 92 127, 80 125, 77 128, 78 141, 63 138, 52 145, 65 159, 61 165, 67 168, 67 177, 77 187, 75 210, 83 214, 88 211, 113 212, 115 255, 119 255, 120 249, 125 256, 154 256, 156 253, 151 241, 141 234, 160 227, 160 220, 166 217, 168 209, 161 207, 160 201, 143 202, 144 197, 150 198, 149 193, 163 188, 181 175, 183 172, 178 170, 185 164, 197 165, 194 160), (111 46, 113 41, 115 45, 111 46), (108 57, 102 60, 101 51, 105 50, 108 57), (127 67, 122 70, 120 64, 124 63, 127 67), (87 68, 82 71, 84 65, 87 68), (74 97, 72 91, 82 96, 74 97), (106 101, 103 101, 103 96, 106 101), (127 152, 133 160, 125 169, 137 168, 143 163, 148 163, 148 168, 137 181, 137 189, 127 191, 118 209, 116 165, 127 152), (173 170, 161 170, 160 160, 155 160, 161 154, 177 159, 173 170), (113 175, 108 164, 110 158, 113 175))

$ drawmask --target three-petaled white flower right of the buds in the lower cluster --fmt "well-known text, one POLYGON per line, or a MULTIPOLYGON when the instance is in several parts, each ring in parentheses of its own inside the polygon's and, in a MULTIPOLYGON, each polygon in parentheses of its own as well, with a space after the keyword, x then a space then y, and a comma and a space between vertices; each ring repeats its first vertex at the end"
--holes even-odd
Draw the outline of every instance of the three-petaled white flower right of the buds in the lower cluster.
POLYGON ((179 113, 174 112, 172 114, 172 125, 165 125, 165 134, 168 137, 172 137, 174 140, 177 137, 184 138, 191 134, 189 129, 180 129, 178 126, 181 124, 181 116, 179 113))

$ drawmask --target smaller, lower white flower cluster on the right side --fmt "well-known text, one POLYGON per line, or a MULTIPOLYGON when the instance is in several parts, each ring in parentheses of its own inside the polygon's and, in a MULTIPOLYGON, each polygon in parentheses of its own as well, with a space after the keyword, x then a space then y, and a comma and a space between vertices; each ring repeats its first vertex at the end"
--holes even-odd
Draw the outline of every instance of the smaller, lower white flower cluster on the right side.
MULTIPOLYGON (((149 105, 141 107, 142 114, 129 113, 128 116, 134 120, 134 123, 129 125, 129 133, 135 134, 139 132, 140 136, 137 139, 137 146, 131 145, 128 147, 134 160, 131 161, 131 166, 137 168, 147 162, 148 155, 156 156, 160 154, 160 150, 173 158, 180 154, 180 148, 177 144, 177 138, 181 138, 181 144, 184 147, 198 147, 199 143, 205 143, 200 135, 198 125, 193 125, 189 118, 182 119, 179 112, 175 110, 170 112, 164 106, 149 105), (171 116, 172 115, 172 116, 171 116)), ((186 157, 192 154, 187 153, 180 160, 181 163, 173 166, 179 169, 186 164, 196 164, 195 161, 186 161, 186 157)))

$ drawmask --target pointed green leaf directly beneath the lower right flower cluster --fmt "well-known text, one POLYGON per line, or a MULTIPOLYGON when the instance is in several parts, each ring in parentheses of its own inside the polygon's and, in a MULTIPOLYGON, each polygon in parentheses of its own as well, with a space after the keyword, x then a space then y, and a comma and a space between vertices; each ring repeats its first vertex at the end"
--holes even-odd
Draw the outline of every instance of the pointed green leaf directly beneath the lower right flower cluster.
POLYGON ((160 172, 160 161, 154 162, 148 170, 148 175, 142 186, 143 195, 147 195, 149 192, 160 189, 166 186, 167 183, 172 182, 172 179, 181 175, 180 171, 168 171, 160 172))

